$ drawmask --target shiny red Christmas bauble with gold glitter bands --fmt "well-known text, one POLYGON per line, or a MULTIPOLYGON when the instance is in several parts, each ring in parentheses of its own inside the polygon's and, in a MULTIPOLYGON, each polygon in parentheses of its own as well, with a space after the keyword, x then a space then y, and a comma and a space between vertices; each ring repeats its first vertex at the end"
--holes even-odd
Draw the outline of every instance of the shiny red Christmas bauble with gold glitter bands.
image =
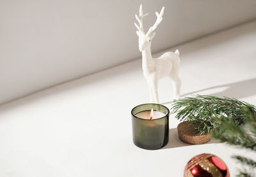
POLYGON ((184 177, 230 177, 228 167, 216 155, 201 153, 189 160, 184 177))

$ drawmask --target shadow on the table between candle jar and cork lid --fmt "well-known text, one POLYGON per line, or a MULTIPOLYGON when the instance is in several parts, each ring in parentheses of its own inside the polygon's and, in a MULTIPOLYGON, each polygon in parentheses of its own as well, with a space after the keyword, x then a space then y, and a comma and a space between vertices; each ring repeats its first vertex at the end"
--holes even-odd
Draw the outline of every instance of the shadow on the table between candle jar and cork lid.
MULTIPOLYGON (((211 141, 209 141, 206 144, 212 144, 212 143, 218 143, 218 141, 211 139, 211 141)), ((179 147, 183 147, 183 146, 195 146, 195 145, 189 145, 187 143, 180 141, 179 136, 178 136, 178 131, 175 128, 175 129, 169 129, 169 142, 166 146, 164 146, 161 149, 179 148, 179 147)))

